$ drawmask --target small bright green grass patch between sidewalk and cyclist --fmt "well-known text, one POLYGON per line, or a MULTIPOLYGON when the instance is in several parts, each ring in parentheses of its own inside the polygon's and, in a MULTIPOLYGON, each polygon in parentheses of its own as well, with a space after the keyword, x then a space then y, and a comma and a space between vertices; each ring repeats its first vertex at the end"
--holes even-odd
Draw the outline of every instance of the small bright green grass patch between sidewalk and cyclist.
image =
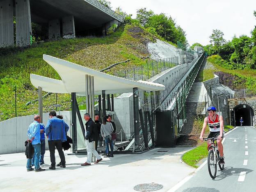
POLYGON ((187 151, 184 153, 182 156, 182 160, 187 164, 190 165, 191 167, 197 168, 198 166, 196 165, 201 159, 206 158, 208 155, 207 151, 207 142, 203 142, 196 148, 187 151))

